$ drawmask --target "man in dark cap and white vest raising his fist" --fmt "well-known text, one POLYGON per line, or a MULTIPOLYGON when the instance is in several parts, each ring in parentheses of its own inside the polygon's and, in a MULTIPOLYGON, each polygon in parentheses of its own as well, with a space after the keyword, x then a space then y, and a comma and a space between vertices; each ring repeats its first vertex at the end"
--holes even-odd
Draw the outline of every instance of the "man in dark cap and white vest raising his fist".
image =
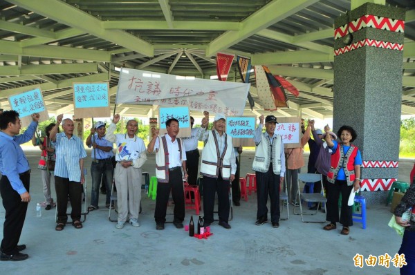
POLYGON ((259 117, 259 125, 255 130, 255 158, 252 170, 257 177, 257 221, 255 225, 264 225, 268 222, 268 208, 266 202, 268 194, 271 204, 271 222, 273 227, 279 227, 279 186, 284 182, 286 171, 284 158, 284 143, 281 135, 277 135, 275 126, 277 117, 267 115, 265 119, 266 131, 262 133, 264 115, 259 117))

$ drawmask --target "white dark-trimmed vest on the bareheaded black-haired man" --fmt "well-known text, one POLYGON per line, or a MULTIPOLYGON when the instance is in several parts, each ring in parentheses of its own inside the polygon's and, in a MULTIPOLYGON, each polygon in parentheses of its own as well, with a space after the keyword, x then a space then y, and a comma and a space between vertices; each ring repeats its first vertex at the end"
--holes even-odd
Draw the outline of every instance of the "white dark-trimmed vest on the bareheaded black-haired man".
MULTIPOLYGON (((178 153, 180 160, 182 157, 182 140, 176 138, 178 144, 178 153)), ((169 149, 167 149, 167 141, 165 135, 159 137, 158 151, 156 152, 156 177, 158 182, 169 182, 169 149)))

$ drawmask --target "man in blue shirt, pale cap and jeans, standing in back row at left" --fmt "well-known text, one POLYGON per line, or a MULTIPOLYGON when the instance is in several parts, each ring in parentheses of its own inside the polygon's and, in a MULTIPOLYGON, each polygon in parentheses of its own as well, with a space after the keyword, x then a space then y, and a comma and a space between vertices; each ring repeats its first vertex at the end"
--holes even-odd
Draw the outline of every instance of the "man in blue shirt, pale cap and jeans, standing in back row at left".
POLYGON ((92 191, 91 191, 91 205, 88 211, 98 209, 98 199, 100 198, 100 183, 101 178, 105 182, 107 189, 107 199, 105 200, 106 207, 109 207, 109 200, 111 196, 111 184, 113 178, 113 165, 111 158, 113 157, 113 143, 105 138, 105 124, 104 122, 96 122, 88 138, 86 138, 86 146, 93 148, 91 158, 91 176, 92 176, 92 191))

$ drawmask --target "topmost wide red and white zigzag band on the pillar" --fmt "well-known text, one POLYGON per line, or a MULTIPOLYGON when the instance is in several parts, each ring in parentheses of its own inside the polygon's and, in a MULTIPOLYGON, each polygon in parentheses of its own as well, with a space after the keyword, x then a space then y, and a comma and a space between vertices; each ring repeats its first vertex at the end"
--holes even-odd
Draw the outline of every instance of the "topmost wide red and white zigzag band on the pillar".
POLYGON ((389 30, 391 32, 403 32, 405 21, 387 17, 378 17, 376 15, 363 15, 344 26, 336 28, 334 30, 334 39, 342 38, 344 35, 347 35, 347 33, 356 32, 362 28, 377 28, 379 30, 389 30))

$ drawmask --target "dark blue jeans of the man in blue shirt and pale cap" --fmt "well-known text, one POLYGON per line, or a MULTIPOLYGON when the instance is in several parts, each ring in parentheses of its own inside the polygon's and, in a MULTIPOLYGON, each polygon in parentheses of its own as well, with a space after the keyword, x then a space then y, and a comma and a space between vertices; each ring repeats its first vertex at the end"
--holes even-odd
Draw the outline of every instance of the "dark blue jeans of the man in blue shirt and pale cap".
POLYGON ((109 198, 111 197, 111 184, 113 178, 113 166, 111 158, 105 160, 98 160, 98 162, 92 162, 91 164, 91 176, 92 176, 92 192, 91 192, 91 205, 98 208, 98 198, 100 197, 100 184, 101 177, 104 177, 105 186, 107 187, 107 200, 105 204, 109 204, 109 198))

